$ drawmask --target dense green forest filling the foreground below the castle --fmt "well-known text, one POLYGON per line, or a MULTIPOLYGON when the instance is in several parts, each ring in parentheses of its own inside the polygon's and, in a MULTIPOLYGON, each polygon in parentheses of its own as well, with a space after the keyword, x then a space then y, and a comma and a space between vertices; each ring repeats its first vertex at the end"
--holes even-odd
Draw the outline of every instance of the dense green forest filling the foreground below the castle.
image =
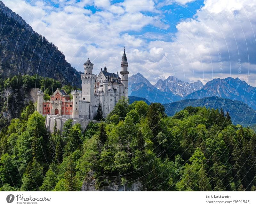
MULTIPOLYGON (((105 122, 50 134, 33 103, 1 129, 0 190, 97 190, 119 179, 147 191, 255 191, 256 136, 223 110, 121 99, 105 122)), ((134 189, 136 190, 136 189, 134 189)))

